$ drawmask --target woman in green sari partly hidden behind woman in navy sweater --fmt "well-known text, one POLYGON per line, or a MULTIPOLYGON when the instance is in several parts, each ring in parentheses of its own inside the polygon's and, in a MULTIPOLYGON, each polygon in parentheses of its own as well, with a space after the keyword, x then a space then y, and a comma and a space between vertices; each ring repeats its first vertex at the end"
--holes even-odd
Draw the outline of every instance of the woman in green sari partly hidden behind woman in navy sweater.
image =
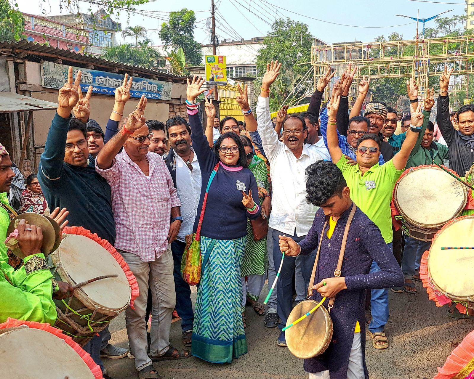
MULTIPOLYGON (((267 166, 263 159, 254 154, 252 141, 248 137, 241 135, 240 140, 244 145, 248 168, 252 171, 257 181, 262 217, 267 219, 267 217, 270 216, 271 207, 267 166)), ((268 254, 266 237, 255 241, 252 224, 250 220, 248 220, 247 244, 245 245, 244 259, 242 261, 242 267, 240 268, 240 277, 242 280, 242 319, 244 320, 244 327, 246 327, 245 307, 247 304, 254 308, 258 316, 265 314, 265 308, 258 302, 258 298, 265 284, 267 269, 268 254), (247 280, 245 280, 245 277, 247 277, 247 280)))

